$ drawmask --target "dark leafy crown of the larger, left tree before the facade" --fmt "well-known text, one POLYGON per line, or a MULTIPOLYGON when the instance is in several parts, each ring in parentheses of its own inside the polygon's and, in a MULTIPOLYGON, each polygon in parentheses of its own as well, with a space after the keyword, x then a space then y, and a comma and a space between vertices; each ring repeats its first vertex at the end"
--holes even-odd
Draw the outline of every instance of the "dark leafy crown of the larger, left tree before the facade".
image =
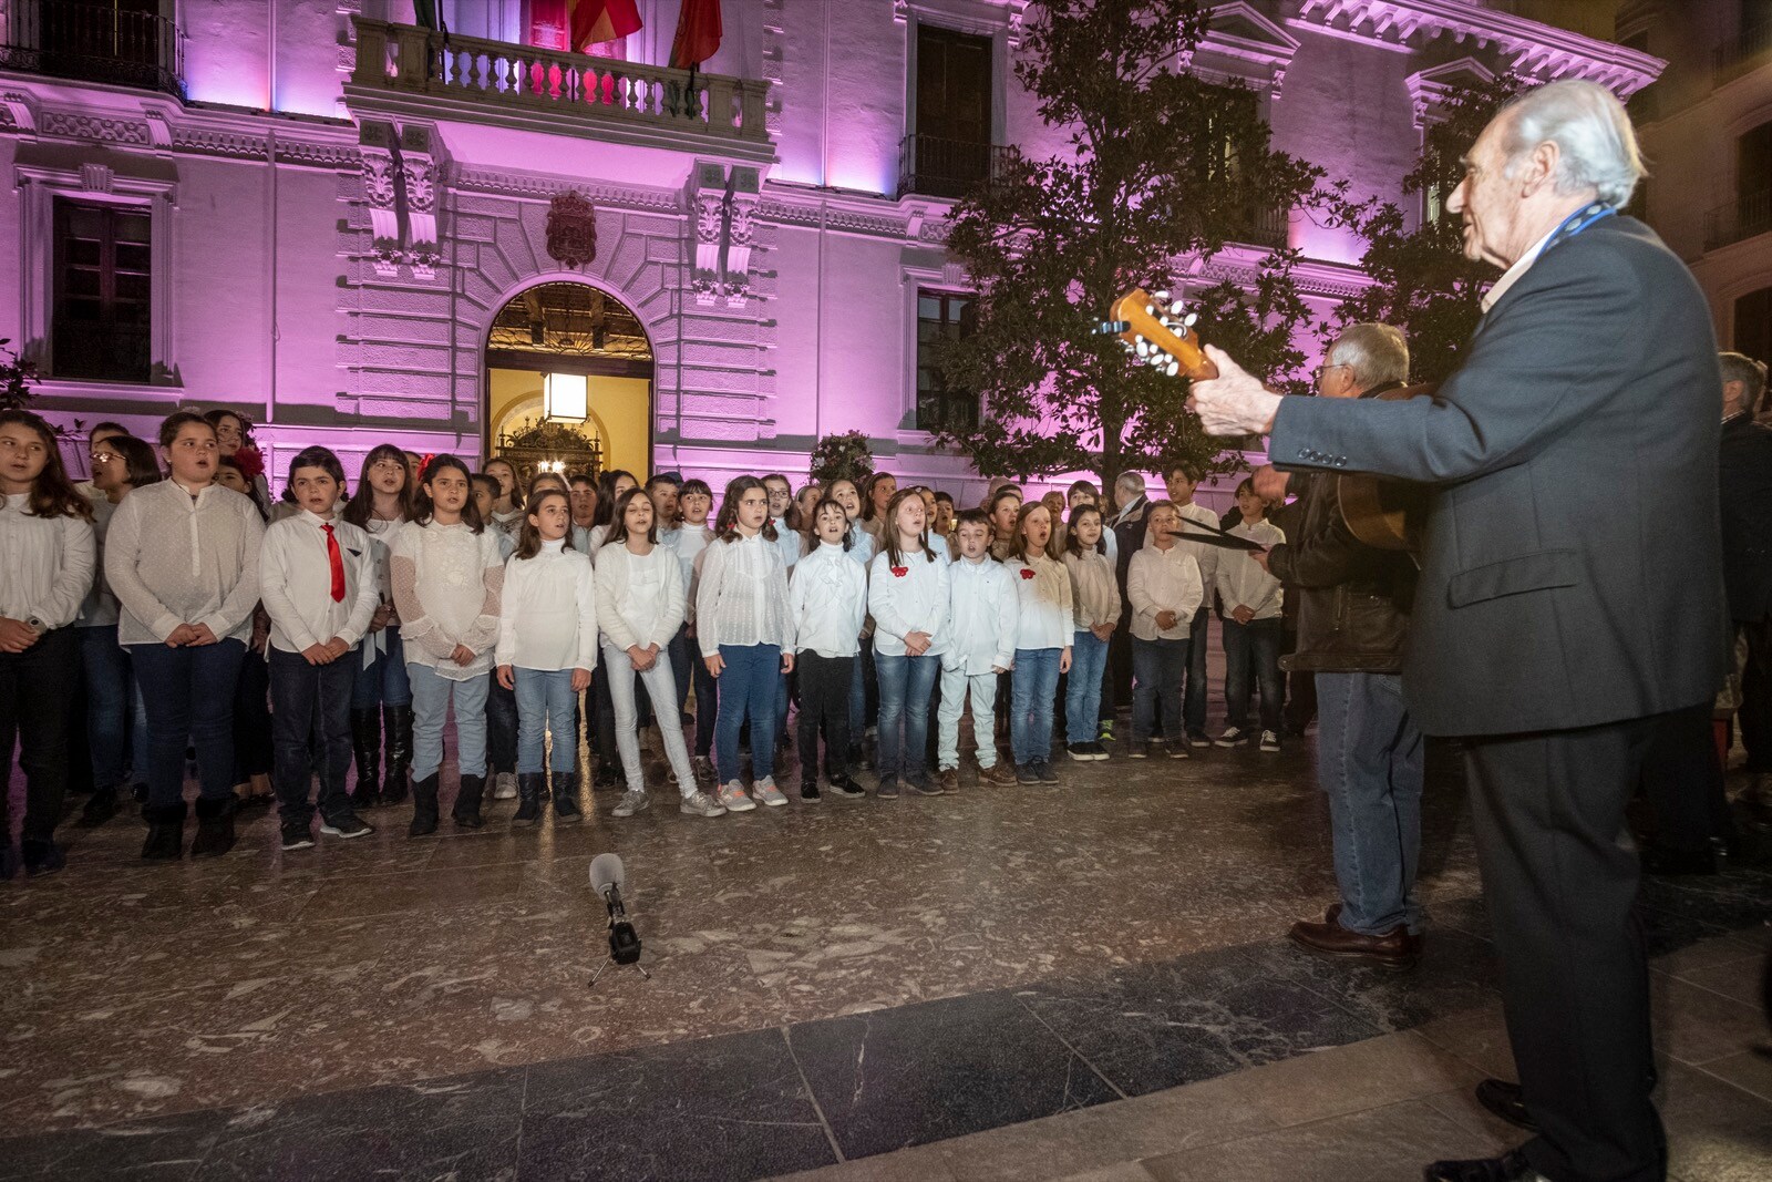
MULTIPOLYGON (((1125 291, 1175 287, 1178 259, 1255 237, 1258 211, 1320 200, 1322 174, 1271 151, 1249 90, 1185 73, 1205 27, 1196 0, 1030 7, 1015 74, 1069 142, 1045 159, 1017 158, 960 200, 948 234, 978 301, 971 333, 937 363, 950 388, 982 395, 982 413, 936 439, 980 471, 1083 470, 1108 482, 1168 459, 1226 466, 1223 441, 1182 408, 1187 383, 1095 333, 1125 291)), ((1290 266, 1263 264, 1255 292, 1205 292, 1212 338, 1255 372, 1302 363, 1290 330, 1308 317, 1290 266)))

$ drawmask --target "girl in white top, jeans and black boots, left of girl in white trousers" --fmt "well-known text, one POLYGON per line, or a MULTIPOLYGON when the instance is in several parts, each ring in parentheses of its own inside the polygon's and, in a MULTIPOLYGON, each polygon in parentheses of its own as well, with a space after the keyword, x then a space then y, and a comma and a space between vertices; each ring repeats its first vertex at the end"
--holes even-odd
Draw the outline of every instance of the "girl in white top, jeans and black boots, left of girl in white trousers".
POLYGON ((578 808, 578 695, 597 668, 597 597, 590 558, 572 549, 571 498, 533 491, 517 549, 505 564, 498 620, 498 684, 517 698, 517 812, 514 826, 540 820, 542 732, 553 737, 555 819, 578 808))

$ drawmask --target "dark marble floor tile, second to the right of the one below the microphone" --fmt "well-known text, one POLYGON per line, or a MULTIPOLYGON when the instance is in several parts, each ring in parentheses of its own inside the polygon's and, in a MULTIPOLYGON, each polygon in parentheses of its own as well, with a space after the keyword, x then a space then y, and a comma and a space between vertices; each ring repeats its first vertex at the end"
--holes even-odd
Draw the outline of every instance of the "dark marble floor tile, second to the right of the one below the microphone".
POLYGON ((1242 950, 1019 991, 1127 1095, 1143 1095, 1380 1033, 1242 950))

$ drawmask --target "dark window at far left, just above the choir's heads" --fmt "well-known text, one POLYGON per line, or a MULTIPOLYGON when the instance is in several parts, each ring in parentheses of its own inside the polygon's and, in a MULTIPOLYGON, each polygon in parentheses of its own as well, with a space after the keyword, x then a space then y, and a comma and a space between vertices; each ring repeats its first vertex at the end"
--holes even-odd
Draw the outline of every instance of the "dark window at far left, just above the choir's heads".
POLYGON ((55 202, 57 377, 147 381, 149 213, 55 202))

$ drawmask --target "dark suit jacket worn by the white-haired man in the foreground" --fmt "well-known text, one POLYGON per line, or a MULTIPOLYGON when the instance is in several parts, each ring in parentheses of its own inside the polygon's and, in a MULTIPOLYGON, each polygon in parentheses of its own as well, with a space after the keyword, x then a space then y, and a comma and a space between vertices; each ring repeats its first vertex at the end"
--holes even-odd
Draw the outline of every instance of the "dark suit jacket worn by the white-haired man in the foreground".
POLYGON ((1710 700, 1728 643, 1721 381, 1690 273, 1616 216, 1503 294, 1437 397, 1283 402, 1276 463, 1435 486, 1403 656, 1425 732, 1710 700))

